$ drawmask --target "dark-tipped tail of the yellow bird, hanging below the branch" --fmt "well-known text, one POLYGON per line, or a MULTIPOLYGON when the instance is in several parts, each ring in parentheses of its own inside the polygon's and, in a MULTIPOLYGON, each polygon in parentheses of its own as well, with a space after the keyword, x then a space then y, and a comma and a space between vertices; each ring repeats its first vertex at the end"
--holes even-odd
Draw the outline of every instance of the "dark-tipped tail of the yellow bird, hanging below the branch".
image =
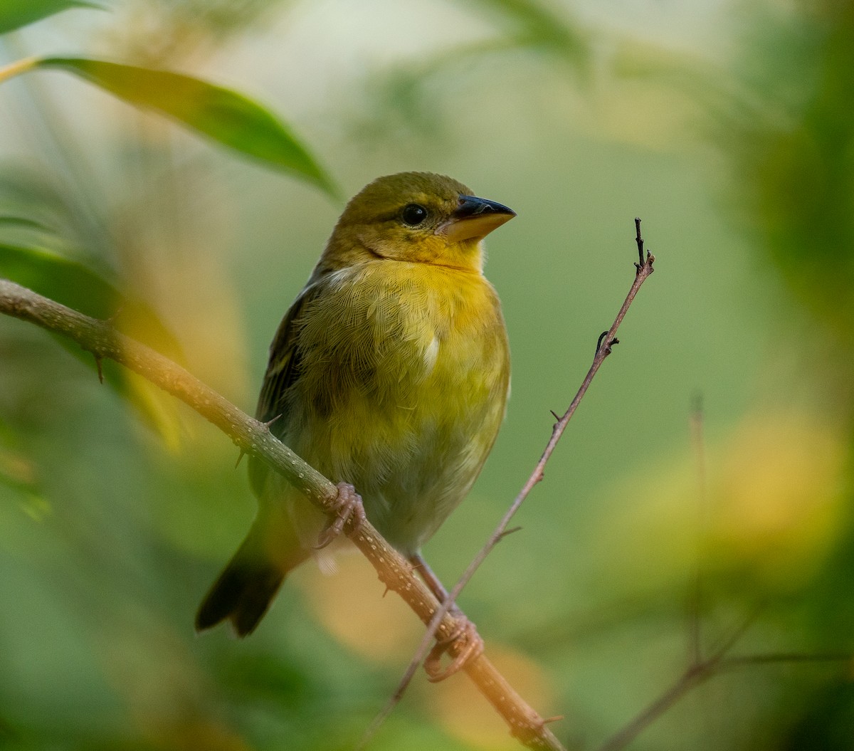
POLYGON ((308 553, 285 519, 261 513, 196 613, 196 631, 230 620, 237 636, 254 631, 292 568, 308 553))

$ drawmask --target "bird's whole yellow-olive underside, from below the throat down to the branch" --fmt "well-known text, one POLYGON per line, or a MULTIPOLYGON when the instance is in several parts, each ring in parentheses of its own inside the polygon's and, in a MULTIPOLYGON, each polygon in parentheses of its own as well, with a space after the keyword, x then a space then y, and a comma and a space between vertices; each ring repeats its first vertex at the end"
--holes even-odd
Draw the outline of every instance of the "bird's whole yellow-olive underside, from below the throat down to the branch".
POLYGON ((483 276, 397 261, 330 274, 298 321, 286 437, 371 521, 418 549, 470 489, 509 384, 498 298, 483 276))

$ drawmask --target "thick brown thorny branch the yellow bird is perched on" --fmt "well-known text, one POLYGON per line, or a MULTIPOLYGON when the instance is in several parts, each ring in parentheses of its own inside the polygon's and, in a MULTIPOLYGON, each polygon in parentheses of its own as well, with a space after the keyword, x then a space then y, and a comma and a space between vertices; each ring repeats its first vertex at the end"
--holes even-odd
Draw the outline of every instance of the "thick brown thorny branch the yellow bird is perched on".
MULTIPOLYGON (((336 486, 274 437, 266 425, 237 409, 183 367, 120 334, 109 322, 80 314, 6 279, 0 279, 0 313, 69 337, 96 359, 109 358, 139 373, 216 425, 244 454, 257 456, 281 472, 315 506, 327 513, 332 510, 336 486)), ((370 524, 360 525, 356 531, 350 526, 346 531, 377 569, 380 581, 401 596, 425 624, 430 623, 439 602, 415 576, 407 560, 370 524)), ((458 625, 459 619, 444 613, 436 636, 447 638, 458 631, 458 625)), ((505 719, 512 735, 525 746, 553 751, 563 748, 547 729, 546 721, 525 703, 483 654, 469 660, 465 672, 505 719)))

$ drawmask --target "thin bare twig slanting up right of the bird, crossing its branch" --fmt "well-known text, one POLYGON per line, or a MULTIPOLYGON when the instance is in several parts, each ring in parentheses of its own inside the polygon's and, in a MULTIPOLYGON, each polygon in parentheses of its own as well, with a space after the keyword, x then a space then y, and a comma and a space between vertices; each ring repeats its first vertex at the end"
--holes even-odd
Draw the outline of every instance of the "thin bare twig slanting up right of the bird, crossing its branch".
MULTIPOLYGON (((640 219, 635 219, 635 227, 637 231, 638 247, 642 253, 643 239, 640 238, 640 219)), ((421 664, 422 660, 424 660, 424 657, 430 649, 430 644, 433 642, 436 635, 436 629, 441 623, 442 617, 450 610, 451 607, 453 607, 453 603, 459 597, 459 593, 463 590, 465 585, 469 583, 469 580, 474 576, 474 573, 483 563, 483 560, 486 559, 495 545, 497 545, 505 536, 507 525, 510 524, 513 515, 518 511, 518 508, 522 505, 525 498, 528 497, 530 491, 534 489, 535 484, 539 483, 543 478, 543 472, 547 461, 553 454, 555 447, 558 445, 560 437, 564 434, 566 425, 569 424, 572 419, 572 415, 576 413, 576 409, 581 403, 582 397, 587 393, 596 372, 605 361, 605 357, 611 354, 611 347, 618 342, 616 336, 617 329, 620 327, 620 324, 623 323, 623 318, 625 318, 626 313, 629 311, 629 306, 635 300, 635 296, 637 295, 638 290, 640 290, 640 285, 642 285, 646 281, 647 277, 649 277, 649 275, 655 270, 652 266, 654 262, 655 256, 651 253, 647 253, 646 261, 643 261, 642 265, 635 264, 635 280, 629 289, 629 294, 623 301, 623 305, 617 313, 617 318, 614 320, 613 324, 611 324, 611 328, 608 329, 608 331, 603 331, 600 335, 599 342, 596 345, 596 354, 594 355, 593 364, 590 366, 587 375, 584 377, 582 385, 576 393, 575 398, 570 402, 569 408, 566 410, 563 417, 559 418, 558 422, 553 426, 552 437, 549 438, 548 443, 546 444, 546 449, 540 457, 540 461, 537 462, 534 467, 534 471, 531 472, 530 477, 523 485, 522 490, 519 490, 518 496, 513 499, 510 508, 507 509, 504 517, 500 520, 499 525, 495 527, 495 530, 489 537, 487 543, 477 553, 457 583, 454 584, 453 590, 450 591, 447 599, 442 602, 442 606, 436 610, 436 613, 427 625, 427 631, 424 632, 424 638, 421 640, 418 650, 412 657, 412 661, 409 663, 409 666, 407 666, 407 671, 403 674, 400 683, 397 685, 395 692, 391 695, 385 707, 383 707, 383 709, 371 721, 371 725, 368 726, 359 748, 364 747, 366 742, 377 731, 377 728, 383 724, 383 721, 389 716, 397 703, 401 701, 401 697, 406 691, 407 686, 412 682, 412 678, 418 671, 418 666, 421 664)))

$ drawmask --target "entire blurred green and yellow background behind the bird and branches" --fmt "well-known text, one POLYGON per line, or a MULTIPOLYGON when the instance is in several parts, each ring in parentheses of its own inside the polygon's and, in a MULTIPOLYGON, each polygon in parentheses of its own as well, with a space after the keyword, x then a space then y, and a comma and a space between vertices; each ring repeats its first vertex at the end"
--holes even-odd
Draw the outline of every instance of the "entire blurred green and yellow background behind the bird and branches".
MULTIPOLYGON (((799 660, 712 678, 629 748, 851 748, 854 660, 809 660, 854 654, 847 3, 115 0, 48 17, 73 4, 0 3, 0 29, 20 27, 6 62, 41 56, 261 156, 281 124, 252 101, 282 102, 322 156, 309 183, 328 187, 318 163, 348 192, 431 169, 518 211, 488 243, 512 402, 425 551, 447 580, 588 367, 640 215, 658 271, 524 530, 461 605, 570 746, 597 748, 667 689, 697 622, 705 654, 746 625, 734 655, 799 660), (215 106, 183 110, 176 83, 215 106)), ((340 207, 67 76, 27 73, 0 102, 0 273, 251 411, 340 207)), ((194 414, 133 381, 104 390, 83 362, 0 320, 0 748, 352 748, 420 625, 343 556, 336 576, 295 572, 253 637, 196 638, 254 513, 243 471, 194 414), (127 408, 139 394, 155 431, 127 408)), ((371 748, 517 745, 464 678, 419 678, 371 748)))

